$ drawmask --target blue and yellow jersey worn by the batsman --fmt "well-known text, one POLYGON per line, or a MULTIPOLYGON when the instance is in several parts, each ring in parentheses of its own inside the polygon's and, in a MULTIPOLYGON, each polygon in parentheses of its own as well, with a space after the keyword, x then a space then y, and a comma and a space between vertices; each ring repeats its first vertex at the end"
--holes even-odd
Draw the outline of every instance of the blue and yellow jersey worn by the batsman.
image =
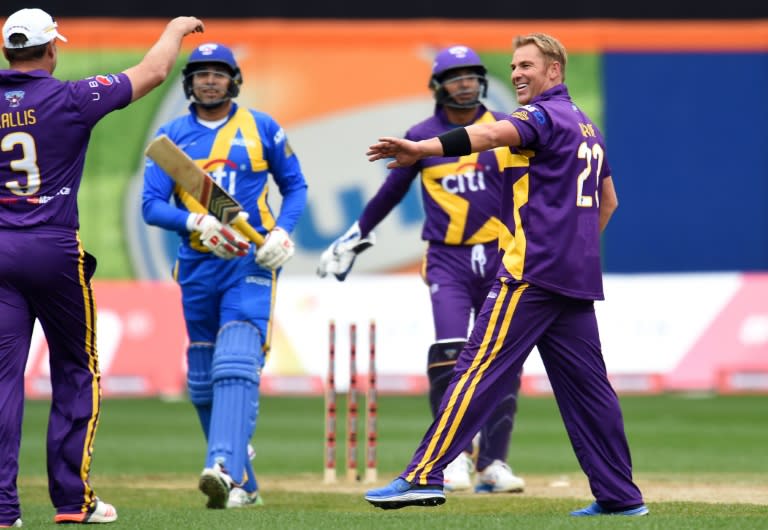
MULTIPOLYGON (((232 195, 249 214, 248 222, 266 234, 275 226, 291 232, 306 204, 307 184, 282 127, 269 115, 232 105, 228 119, 211 129, 190 113, 162 126, 166 134, 232 195), (269 176, 282 196, 279 214, 270 208, 269 176)), ((175 230, 182 239, 179 255, 207 252, 197 236, 190 237, 185 192, 152 160, 146 161, 142 212, 152 225, 175 230), (173 198, 175 204, 169 203, 173 198)))

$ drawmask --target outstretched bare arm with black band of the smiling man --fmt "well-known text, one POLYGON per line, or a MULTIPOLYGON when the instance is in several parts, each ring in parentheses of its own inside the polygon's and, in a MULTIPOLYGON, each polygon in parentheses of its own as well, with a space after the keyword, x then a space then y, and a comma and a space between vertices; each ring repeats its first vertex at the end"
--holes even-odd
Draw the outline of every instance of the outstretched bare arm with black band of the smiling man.
POLYGON ((387 164, 388 168, 393 169, 413 165, 428 156, 463 156, 496 147, 516 145, 520 145, 517 128, 507 120, 499 120, 459 127, 419 142, 386 136, 370 146, 366 155, 371 162, 394 158, 387 164))

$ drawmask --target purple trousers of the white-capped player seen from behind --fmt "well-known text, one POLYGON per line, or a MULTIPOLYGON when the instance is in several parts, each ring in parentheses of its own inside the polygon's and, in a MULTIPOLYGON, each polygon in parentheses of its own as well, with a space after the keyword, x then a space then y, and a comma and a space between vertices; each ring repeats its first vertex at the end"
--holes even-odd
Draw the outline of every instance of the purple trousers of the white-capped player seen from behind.
POLYGON ((0 229, 0 248, 0 524, 21 516, 16 478, 35 319, 50 351, 48 491, 57 513, 79 513, 95 499, 88 477, 101 399, 96 260, 67 228, 0 229))

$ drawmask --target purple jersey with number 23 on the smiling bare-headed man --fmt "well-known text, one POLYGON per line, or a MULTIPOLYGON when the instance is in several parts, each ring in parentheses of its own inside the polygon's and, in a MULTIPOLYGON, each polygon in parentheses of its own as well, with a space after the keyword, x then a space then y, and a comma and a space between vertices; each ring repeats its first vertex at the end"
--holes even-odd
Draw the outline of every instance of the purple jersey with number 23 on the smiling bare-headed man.
POLYGON ((599 197, 611 175, 602 134, 565 85, 507 119, 522 143, 505 171, 500 275, 602 300, 599 197))

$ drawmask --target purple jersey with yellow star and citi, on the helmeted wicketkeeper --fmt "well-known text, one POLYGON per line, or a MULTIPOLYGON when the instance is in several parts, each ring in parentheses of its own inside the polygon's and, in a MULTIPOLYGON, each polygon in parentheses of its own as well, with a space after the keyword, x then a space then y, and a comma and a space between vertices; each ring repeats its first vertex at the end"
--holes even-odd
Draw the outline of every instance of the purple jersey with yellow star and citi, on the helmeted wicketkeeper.
MULTIPOLYGON (((488 123, 507 115, 480 106, 473 123, 488 123)), ((438 108, 434 115, 411 127, 405 137, 423 140, 455 129, 438 108)), ((499 237, 501 173, 509 151, 499 148, 462 157, 429 157, 390 171, 387 180, 366 205, 360 229, 367 234, 402 200, 421 174, 421 195, 426 214, 421 237, 445 245, 475 245, 499 237)))

